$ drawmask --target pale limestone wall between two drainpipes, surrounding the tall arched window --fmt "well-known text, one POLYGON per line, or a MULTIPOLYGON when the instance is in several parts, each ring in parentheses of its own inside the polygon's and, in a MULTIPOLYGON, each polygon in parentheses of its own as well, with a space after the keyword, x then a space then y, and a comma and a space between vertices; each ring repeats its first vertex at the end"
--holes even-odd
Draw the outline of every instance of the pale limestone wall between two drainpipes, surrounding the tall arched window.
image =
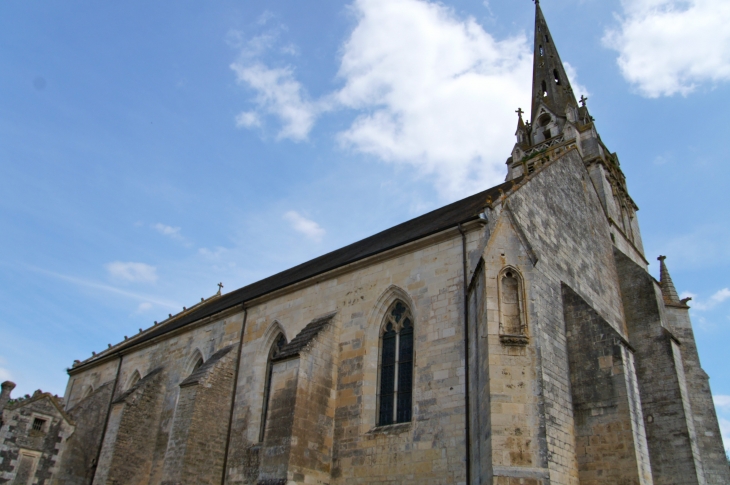
MULTIPOLYGON (((473 250, 478 233, 468 238, 473 250)), ((402 484, 463 482, 462 284, 461 236, 452 230, 247 305, 227 483, 255 483, 249 471, 263 466, 258 440, 274 339, 282 332, 291 341, 308 322, 334 311, 339 338, 332 353, 330 483, 392 483, 396 476, 402 484), (379 331, 396 299, 415 319, 413 419, 378 428, 379 331)))

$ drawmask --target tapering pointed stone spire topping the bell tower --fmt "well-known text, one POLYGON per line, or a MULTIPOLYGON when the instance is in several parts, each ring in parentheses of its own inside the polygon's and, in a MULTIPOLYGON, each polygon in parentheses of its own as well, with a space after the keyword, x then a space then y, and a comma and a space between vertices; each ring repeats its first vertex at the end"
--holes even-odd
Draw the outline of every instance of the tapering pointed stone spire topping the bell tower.
POLYGON ((532 113, 534 126, 540 104, 557 116, 565 116, 568 107, 578 108, 573 88, 555 47, 550 29, 535 1, 535 53, 532 68, 532 113))

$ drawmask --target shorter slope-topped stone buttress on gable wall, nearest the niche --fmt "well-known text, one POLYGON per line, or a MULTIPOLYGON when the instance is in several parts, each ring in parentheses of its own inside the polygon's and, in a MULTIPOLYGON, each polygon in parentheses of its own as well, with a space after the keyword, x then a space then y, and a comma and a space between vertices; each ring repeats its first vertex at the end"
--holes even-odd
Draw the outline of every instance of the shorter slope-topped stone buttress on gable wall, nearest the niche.
POLYGON ((651 466, 628 343, 563 286, 581 485, 651 484, 651 466))

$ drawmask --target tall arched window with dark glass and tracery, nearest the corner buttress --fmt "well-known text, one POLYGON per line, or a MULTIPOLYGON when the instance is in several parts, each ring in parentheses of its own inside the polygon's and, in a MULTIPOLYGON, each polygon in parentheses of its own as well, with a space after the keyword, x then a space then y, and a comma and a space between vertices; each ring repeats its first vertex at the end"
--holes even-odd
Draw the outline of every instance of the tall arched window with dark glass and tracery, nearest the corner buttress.
POLYGON ((378 426, 405 423, 413 408, 413 315, 402 301, 390 306, 380 332, 378 426))

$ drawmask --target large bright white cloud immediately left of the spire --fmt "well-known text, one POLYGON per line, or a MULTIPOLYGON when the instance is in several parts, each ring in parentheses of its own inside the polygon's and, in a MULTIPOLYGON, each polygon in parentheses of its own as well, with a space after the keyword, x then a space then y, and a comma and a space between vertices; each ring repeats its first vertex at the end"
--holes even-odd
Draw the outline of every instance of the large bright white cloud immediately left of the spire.
POLYGON ((497 41, 421 0, 356 0, 354 10, 337 99, 363 114, 342 143, 434 175, 447 198, 501 182, 514 110, 530 101, 527 38, 497 41))

